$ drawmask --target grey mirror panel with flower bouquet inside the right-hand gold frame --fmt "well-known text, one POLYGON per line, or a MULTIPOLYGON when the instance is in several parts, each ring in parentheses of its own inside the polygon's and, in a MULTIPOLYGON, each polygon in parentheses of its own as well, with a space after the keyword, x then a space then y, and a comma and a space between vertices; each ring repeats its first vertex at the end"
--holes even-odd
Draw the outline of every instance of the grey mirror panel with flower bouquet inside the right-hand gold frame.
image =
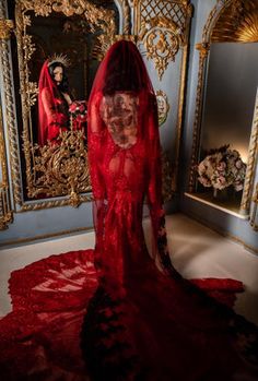
POLYGON ((257 43, 213 43, 198 160, 198 195, 238 212, 258 85, 257 43))

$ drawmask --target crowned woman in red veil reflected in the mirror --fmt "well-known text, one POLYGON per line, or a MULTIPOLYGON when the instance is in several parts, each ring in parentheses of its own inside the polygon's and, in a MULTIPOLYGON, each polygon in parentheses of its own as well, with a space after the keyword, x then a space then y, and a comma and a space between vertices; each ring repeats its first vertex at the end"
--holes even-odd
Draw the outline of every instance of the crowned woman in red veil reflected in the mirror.
POLYGON ((38 84, 38 143, 55 143, 61 131, 69 129, 69 106, 72 104, 68 90, 64 56, 45 61, 38 84))

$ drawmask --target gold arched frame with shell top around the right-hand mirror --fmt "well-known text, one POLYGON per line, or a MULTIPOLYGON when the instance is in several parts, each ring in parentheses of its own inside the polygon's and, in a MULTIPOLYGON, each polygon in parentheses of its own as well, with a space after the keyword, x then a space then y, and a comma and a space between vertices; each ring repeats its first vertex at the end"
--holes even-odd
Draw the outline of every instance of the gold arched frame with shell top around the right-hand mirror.
MULTIPOLYGON (((192 148, 188 191, 195 192, 196 165, 198 164, 198 152, 201 133, 202 103, 207 61, 211 43, 218 41, 258 41, 258 3, 256 0, 223 0, 218 1, 212 9, 203 27, 202 41, 196 45, 199 50, 199 72, 196 95, 196 111, 192 131, 192 148)), ((258 118, 257 106, 253 121, 248 159, 245 177, 245 186, 239 212, 249 214, 251 192, 257 162, 258 118)))

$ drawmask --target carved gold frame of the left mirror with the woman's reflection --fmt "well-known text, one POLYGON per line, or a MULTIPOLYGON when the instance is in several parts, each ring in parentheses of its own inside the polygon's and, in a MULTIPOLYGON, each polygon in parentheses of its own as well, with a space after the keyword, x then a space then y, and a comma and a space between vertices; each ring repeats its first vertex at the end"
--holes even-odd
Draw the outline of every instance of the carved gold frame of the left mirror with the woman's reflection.
MULTIPOLYGON (((130 8, 128 1, 114 1, 120 7, 124 25, 122 33, 130 29, 130 8)), ((91 195, 85 194, 91 190, 89 169, 86 164, 86 147, 82 144, 80 132, 69 132, 61 136, 59 147, 38 147, 33 144, 31 126, 31 106, 37 96, 37 84, 30 81, 28 62, 34 52, 32 37, 27 33, 31 23, 30 13, 35 16, 49 16, 51 13, 61 13, 64 16, 80 15, 94 33, 98 31, 94 45, 94 58, 101 60, 109 45, 118 39, 116 35, 115 12, 105 9, 87 0, 16 0, 15 22, 7 20, 5 1, 0 0, 0 43, 1 67, 4 82, 4 106, 10 152, 10 166, 12 172, 13 199, 15 212, 32 211, 62 205, 78 206, 81 202, 90 201, 91 195), (15 121, 14 93, 12 83, 12 64, 10 49, 10 33, 15 24, 14 34, 17 43, 17 58, 20 71, 20 94, 22 100, 22 146, 15 121), (101 33, 99 33, 101 31, 101 33), (24 201, 23 183, 21 174, 20 151, 23 150, 25 157, 25 178, 30 198, 36 200, 24 201), (75 170, 74 170, 75 169, 75 170), (43 174, 40 178, 37 171, 43 174), (61 197, 56 200, 42 199, 40 193, 47 197, 61 197), (81 193, 81 194, 80 194, 81 193)))

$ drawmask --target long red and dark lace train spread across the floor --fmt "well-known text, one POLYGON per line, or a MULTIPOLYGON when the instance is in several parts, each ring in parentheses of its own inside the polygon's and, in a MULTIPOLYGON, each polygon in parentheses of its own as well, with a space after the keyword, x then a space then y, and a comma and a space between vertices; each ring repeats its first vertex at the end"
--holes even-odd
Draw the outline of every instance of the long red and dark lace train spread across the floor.
MULTIPOLYGON (((0 380, 257 379, 256 328, 244 318, 160 273, 151 259, 126 295, 107 293, 93 260, 93 250, 73 251, 11 274, 0 380)), ((195 283, 227 305, 242 289, 231 279, 195 283)))

